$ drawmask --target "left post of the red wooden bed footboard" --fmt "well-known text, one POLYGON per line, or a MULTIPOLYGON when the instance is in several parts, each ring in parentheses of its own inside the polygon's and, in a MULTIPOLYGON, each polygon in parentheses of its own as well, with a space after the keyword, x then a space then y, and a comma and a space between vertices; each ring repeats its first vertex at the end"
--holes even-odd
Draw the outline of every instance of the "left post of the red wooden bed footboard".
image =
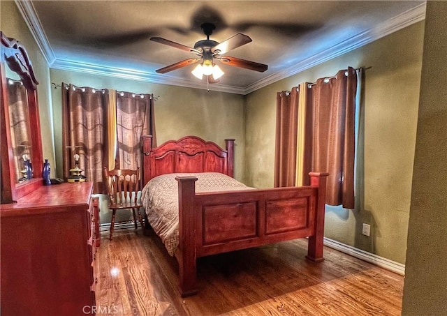
POLYGON ((194 229, 194 197, 196 176, 176 176, 179 183, 179 277, 182 297, 197 293, 196 230, 194 229))

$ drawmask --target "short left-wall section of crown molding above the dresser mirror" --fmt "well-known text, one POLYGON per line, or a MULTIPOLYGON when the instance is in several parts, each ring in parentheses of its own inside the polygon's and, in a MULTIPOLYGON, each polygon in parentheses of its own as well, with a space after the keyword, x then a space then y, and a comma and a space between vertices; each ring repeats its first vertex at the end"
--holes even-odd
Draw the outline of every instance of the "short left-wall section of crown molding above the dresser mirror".
POLYGON ((33 3, 31 1, 15 0, 15 4, 19 9, 20 14, 22 14, 29 31, 31 31, 34 40, 36 40, 39 50, 41 50, 43 57, 45 57, 48 66, 51 67, 52 63, 56 60, 56 56, 50 46, 45 31, 43 31, 41 20, 39 20, 36 14, 36 9, 34 9, 33 3))

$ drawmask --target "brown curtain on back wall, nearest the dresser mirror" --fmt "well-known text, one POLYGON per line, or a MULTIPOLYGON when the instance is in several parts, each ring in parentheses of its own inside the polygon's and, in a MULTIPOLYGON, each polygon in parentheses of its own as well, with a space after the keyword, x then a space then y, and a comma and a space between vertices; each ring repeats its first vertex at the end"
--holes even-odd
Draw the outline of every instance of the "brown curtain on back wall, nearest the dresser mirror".
POLYGON ((102 170, 108 153, 104 119, 108 107, 108 91, 62 84, 62 146, 64 177, 74 167, 73 155, 80 155, 80 168, 87 181, 94 183, 94 193, 105 193, 102 170))

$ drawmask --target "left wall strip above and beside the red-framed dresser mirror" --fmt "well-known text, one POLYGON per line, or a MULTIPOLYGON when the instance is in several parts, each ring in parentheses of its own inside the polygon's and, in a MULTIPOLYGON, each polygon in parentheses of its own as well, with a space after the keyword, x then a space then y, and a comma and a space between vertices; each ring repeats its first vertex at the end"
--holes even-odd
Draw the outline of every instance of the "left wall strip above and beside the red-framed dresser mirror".
POLYGON ((51 176, 54 177, 50 69, 14 1, 0 1, 0 29, 6 36, 15 38, 24 45, 33 65, 36 79, 39 82, 37 93, 41 119, 43 157, 50 162, 52 166, 51 176))

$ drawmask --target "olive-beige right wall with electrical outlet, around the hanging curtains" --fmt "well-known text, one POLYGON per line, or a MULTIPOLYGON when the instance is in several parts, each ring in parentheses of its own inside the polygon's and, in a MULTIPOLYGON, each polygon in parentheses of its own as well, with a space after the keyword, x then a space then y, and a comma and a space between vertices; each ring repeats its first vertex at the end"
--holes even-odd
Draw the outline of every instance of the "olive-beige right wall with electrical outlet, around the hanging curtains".
POLYGON ((358 207, 328 206, 325 236, 396 262, 405 262, 411 176, 423 47, 423 22, 392 33, 247 96, 247 184, 273 185, 276 92, 335 75, 365 70, 360 108, 358 207), (362 236, 362 223, 371 236, 362 236))

